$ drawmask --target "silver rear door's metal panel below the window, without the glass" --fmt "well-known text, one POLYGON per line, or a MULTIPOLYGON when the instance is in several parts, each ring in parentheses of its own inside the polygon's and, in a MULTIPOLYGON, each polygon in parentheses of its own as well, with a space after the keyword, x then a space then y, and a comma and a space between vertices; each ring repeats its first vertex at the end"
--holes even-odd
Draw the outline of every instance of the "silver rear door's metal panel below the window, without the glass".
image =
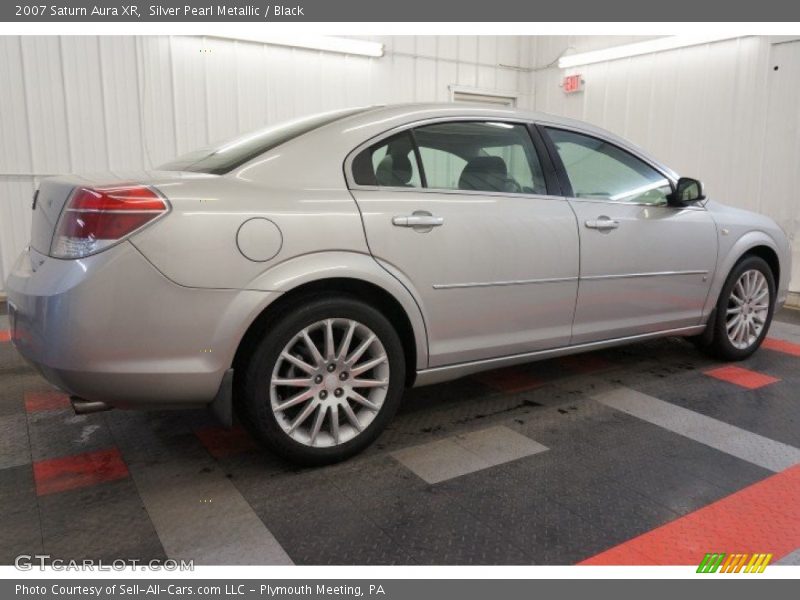
POLYGON ((431 367, 569 343, 578 233, 563 199, 352 192, 370 251, 411 281, 421 298, 431 367), (441 222, 393 224, 414 213, 441 222))

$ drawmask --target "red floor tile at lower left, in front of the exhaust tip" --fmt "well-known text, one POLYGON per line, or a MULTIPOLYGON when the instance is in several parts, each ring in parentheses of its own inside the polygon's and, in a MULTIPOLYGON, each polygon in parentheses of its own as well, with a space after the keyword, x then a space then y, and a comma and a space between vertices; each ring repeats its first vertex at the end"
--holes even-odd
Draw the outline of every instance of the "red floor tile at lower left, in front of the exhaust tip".
POLYGON ((127 476, 128 467, 117 448, 33 463, 38 496, 124 479, 127 476))

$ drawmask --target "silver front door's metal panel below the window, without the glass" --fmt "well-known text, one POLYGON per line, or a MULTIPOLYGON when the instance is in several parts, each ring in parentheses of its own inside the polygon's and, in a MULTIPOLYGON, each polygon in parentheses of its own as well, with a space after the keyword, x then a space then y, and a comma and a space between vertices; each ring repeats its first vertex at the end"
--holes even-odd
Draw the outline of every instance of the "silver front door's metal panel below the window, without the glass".
POLYGON ((572 343, 699 323, 717 260, 702 209, 570 199, 581 235, 572 343), (613 228, 587 226, 613 221, 613 228))

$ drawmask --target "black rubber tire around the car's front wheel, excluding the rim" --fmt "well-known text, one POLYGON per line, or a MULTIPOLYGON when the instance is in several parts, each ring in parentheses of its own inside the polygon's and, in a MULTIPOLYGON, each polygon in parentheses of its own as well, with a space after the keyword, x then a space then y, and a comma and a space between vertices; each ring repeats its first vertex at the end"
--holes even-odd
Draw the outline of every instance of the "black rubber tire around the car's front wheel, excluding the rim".
POLYGON ((720 291, 719 299, 717 300, 717 306, 714 311, 715 314, 713 321, 708 325, 709 327, 713 328, 712 335, 697 336, 696 339, 693 339, 695 345, 697 345, 701 350, 722 360, 739 361, 744 360, 748 356, 752 355, 753 352, 758 350, 758 348, 761 346, 761 343, 767 336, 769 326, 772 323, 772 314, 775 310, 775 287, 775 277, 772 274, 772 269, 770 269, 769 265, 763 258, 752 255, 742 258, 738 263, 736 263, 733 269, 731 269, 731 272, 728 274, 728 278, 725 280, 725 285, 722 286, 722 290, 720 291), (769 288, 767 317, 764 327, 762 328, 758 337, 747 348, 737 348, 733 345, 728 337, 727 311, 731 301, 731 292, 733 291, 736 282, 739 280, 742 274, 750 270, 759 271, 767 281, 767 286, 769 288))

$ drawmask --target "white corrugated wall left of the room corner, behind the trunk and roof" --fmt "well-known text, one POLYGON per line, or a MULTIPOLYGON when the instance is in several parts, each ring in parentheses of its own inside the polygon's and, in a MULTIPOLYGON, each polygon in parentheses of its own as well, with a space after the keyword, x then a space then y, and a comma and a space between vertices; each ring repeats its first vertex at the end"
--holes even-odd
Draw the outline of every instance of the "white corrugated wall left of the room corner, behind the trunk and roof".
POLYGON ((531 38, 369 39, 384 57, 199 37, 0 37, 0 293, 40 177, 149 168, 312 112, 446 101, 452 84, 532 105, 531 38))

